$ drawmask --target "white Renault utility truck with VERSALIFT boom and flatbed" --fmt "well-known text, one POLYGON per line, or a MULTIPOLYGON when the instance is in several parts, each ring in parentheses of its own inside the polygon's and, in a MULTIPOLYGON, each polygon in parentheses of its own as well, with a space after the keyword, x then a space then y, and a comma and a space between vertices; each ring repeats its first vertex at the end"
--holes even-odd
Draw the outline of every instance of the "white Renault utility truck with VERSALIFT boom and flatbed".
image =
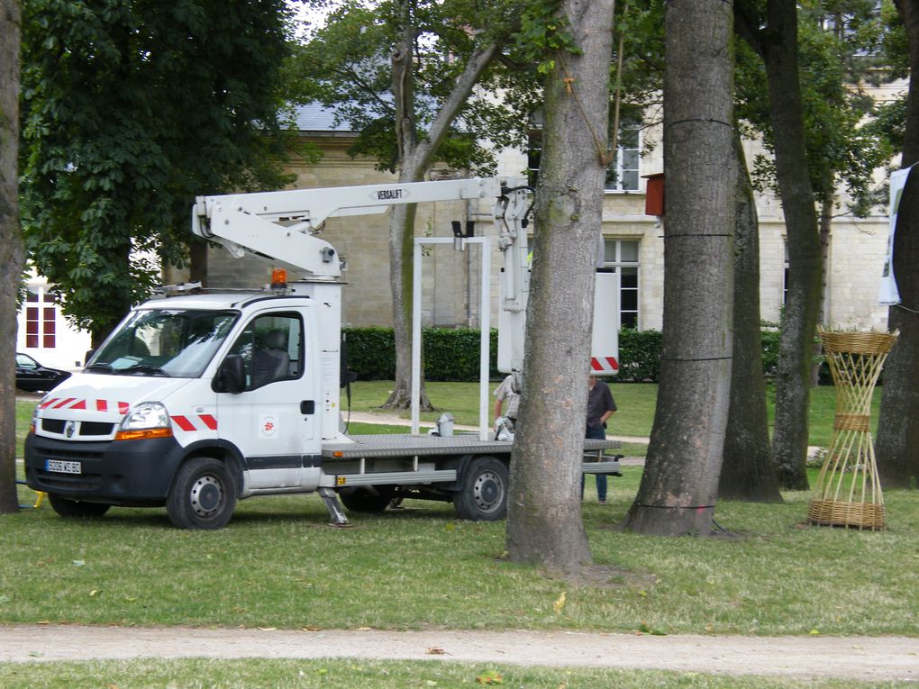
MULTIPOLYGON (((356 512, 411 497, 451 502, 464 519, 502 518, 512 442, 490 440, 484 429, 341 431, 342 266, 316 233, 332 216, 454 199, 494 203, 503 309, 514 331, 502 349, 518 367, 528 290, 525 186, 466 179, 202 197, 194 232, 307 277, 262 291, 194 290, 134 308, 83 371, 40 401, 26 440, 28 486, 47 492, 65 517, 165 505, 174 525, 192 529, 226 525, 238 499, 309 492, 320 494, 335 525, 347 521, 339 497, 356 512)), ((615 361, 615 340, 604 346, 593 356, 615 361)), ((584 470, 618 474, 618 457, 603 454, 614 446, 585 440, 584 470)))

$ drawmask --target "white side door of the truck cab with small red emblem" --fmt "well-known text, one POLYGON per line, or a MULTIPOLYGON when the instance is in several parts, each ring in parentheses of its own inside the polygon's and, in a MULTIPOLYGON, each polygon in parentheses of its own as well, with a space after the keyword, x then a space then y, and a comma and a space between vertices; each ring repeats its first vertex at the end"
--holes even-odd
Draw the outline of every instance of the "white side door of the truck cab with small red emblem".
POLYGON ((230 349, 243 357, 246 387, 218 393, 219 433, 243 453, 248 489, 296 488, 304 458, 320 453, 305 335, 299 312, 263 313, 246 323, 230 349))

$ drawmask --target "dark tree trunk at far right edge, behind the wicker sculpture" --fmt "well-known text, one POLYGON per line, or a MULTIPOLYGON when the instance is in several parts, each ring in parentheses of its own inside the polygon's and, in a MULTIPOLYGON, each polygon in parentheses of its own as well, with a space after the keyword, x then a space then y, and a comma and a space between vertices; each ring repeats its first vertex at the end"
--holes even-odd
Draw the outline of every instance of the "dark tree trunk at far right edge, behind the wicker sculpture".
MULTIPOLYGON (((910 50, 910 90, 901 167, 919 163, 919 2, 894 0, 906 27, 910 50)), ((890 488, 919 487, 919 175, 910 173, 903 189, 894 235, 893 273, 902 304, 892 306, 888 328, 900 337, 884 367, 880 399, 878 473, 890 488)))

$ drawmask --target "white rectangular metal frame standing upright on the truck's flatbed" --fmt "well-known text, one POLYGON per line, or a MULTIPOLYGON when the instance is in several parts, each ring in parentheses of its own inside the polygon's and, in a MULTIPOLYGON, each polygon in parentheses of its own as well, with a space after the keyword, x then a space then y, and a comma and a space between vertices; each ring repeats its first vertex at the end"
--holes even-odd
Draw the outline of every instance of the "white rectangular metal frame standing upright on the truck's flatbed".
MULTIPOLYGON (((480 289, 479 326, 482 337, 479 342, 479 439, 488 440, 488 378, 491 368, 490 338, 492 243, 489 237, 470 237, 462 240, 467 244, 481 244, 482 288, 480 289)), ((454 244, 453 237, 418 237, 414 240, 414 270, 412 286, 412 435, 418 435, 420 425, 421 399, 421 280, 423 247, 431 244, 454 244)))

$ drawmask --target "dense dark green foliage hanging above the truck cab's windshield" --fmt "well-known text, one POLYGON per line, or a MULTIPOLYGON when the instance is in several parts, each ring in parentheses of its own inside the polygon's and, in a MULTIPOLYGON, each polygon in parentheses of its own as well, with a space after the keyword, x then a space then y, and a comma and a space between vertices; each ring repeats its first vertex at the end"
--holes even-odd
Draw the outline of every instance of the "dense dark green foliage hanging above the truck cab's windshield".
POLYGON ((22 216, 94 340, 181 265, 194 197, 277 187, 283 0, 28 0, 22 216))

